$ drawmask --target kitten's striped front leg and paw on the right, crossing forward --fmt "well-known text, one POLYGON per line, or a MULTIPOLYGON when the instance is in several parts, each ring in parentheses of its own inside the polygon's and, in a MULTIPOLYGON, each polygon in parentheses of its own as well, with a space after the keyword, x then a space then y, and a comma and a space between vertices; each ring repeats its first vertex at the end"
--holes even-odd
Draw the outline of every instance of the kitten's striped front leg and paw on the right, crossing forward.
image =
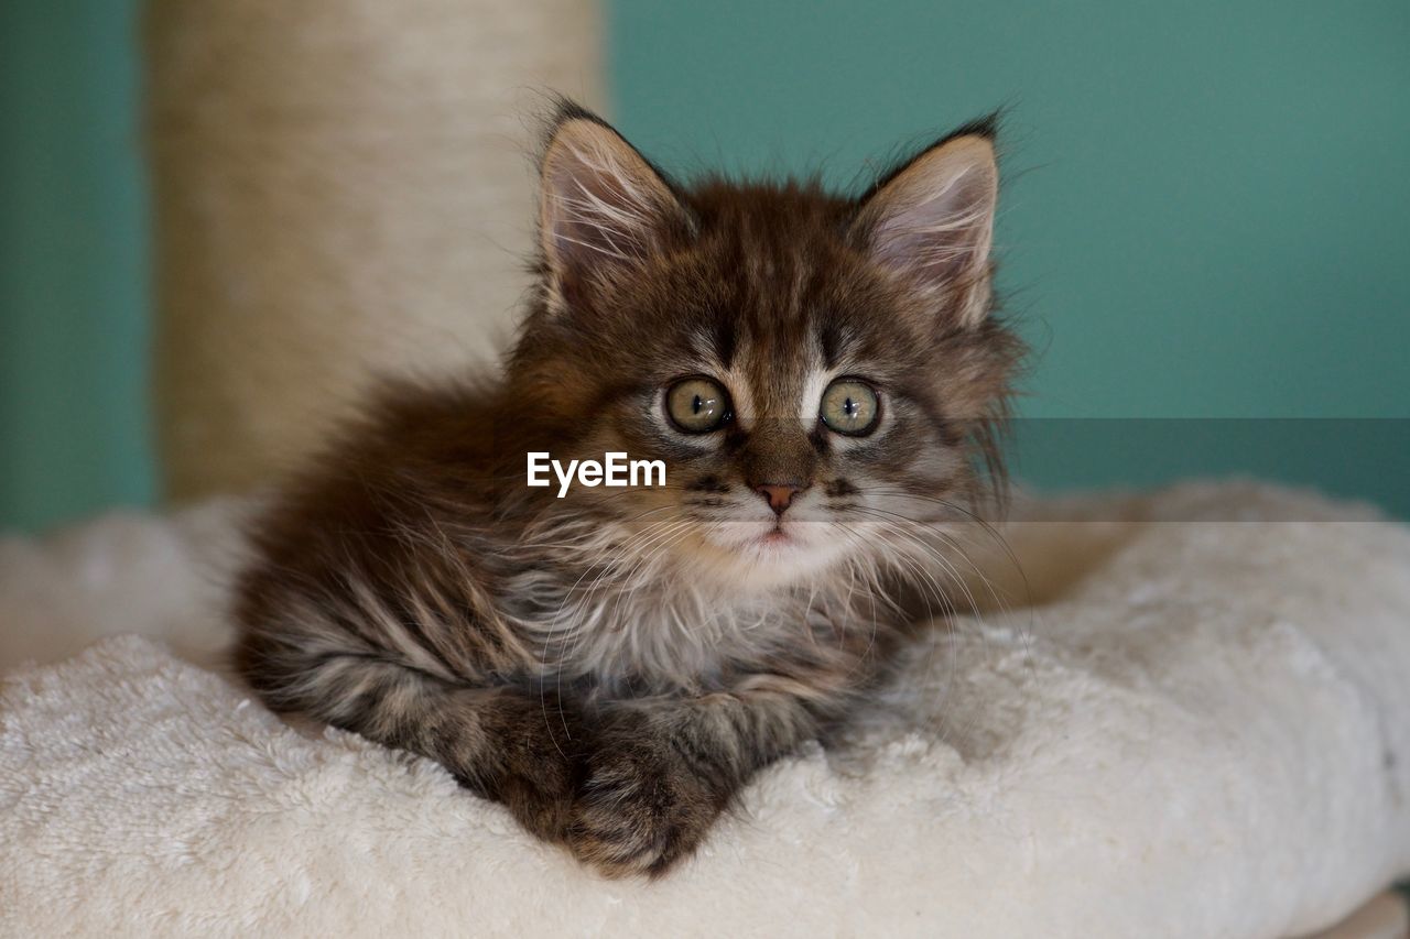
POLYGON ((728 692, 605 706, 585 757, 570 849, 609 877, 664 874, 699 846, 757 770, 816 736, 842 701, 780 675, 754 675, 728 692))

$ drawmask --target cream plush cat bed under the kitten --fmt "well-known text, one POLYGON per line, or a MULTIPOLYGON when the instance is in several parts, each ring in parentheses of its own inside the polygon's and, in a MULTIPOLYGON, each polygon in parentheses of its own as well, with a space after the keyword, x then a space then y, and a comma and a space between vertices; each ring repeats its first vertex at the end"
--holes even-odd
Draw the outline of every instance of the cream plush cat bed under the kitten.
POLYGON ((238 512, 0 547, 0 933, 1287 936, 1410 873, 1410 532, 1358 509, 1028 506, 1067 519, 1010 532, 1035 606, 650 885, 224 677, 238 512))

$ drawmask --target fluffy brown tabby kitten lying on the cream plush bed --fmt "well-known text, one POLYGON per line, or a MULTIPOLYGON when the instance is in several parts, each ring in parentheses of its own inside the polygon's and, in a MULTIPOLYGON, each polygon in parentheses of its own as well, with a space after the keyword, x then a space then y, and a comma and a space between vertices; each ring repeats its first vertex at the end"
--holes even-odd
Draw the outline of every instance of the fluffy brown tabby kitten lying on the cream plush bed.
POLYGON ((238 585, 244 675, 606 874, 688 856, 878 680, 998 478, 1019 345, 990 316, 991 138, 847 199, 684 186, 563 106, 503 374, 384 389, 283 493, 238 585), (667 484, 560 499, 530 451, 667 484))

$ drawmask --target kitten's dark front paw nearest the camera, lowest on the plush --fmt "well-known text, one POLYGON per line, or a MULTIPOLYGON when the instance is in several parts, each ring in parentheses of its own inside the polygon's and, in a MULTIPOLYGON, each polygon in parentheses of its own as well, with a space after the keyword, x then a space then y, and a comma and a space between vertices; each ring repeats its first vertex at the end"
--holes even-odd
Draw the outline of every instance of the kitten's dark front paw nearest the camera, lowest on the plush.
POLYGON ((666 740, 609 740, 585 771, 568 847, 608 877, 660 877, 695 850, 725 806, 666 740))

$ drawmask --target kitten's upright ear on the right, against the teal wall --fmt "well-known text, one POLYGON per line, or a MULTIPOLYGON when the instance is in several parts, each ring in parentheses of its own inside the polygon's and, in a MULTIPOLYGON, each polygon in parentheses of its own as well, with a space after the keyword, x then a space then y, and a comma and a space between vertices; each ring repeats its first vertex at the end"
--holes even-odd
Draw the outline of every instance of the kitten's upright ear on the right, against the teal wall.
POLYGON ((863 197, 854 243, 924 293, 948 297, 962 326, 990 307, 990 244, 998 200, 993 128, 962 131, 922 151, 863 197))

